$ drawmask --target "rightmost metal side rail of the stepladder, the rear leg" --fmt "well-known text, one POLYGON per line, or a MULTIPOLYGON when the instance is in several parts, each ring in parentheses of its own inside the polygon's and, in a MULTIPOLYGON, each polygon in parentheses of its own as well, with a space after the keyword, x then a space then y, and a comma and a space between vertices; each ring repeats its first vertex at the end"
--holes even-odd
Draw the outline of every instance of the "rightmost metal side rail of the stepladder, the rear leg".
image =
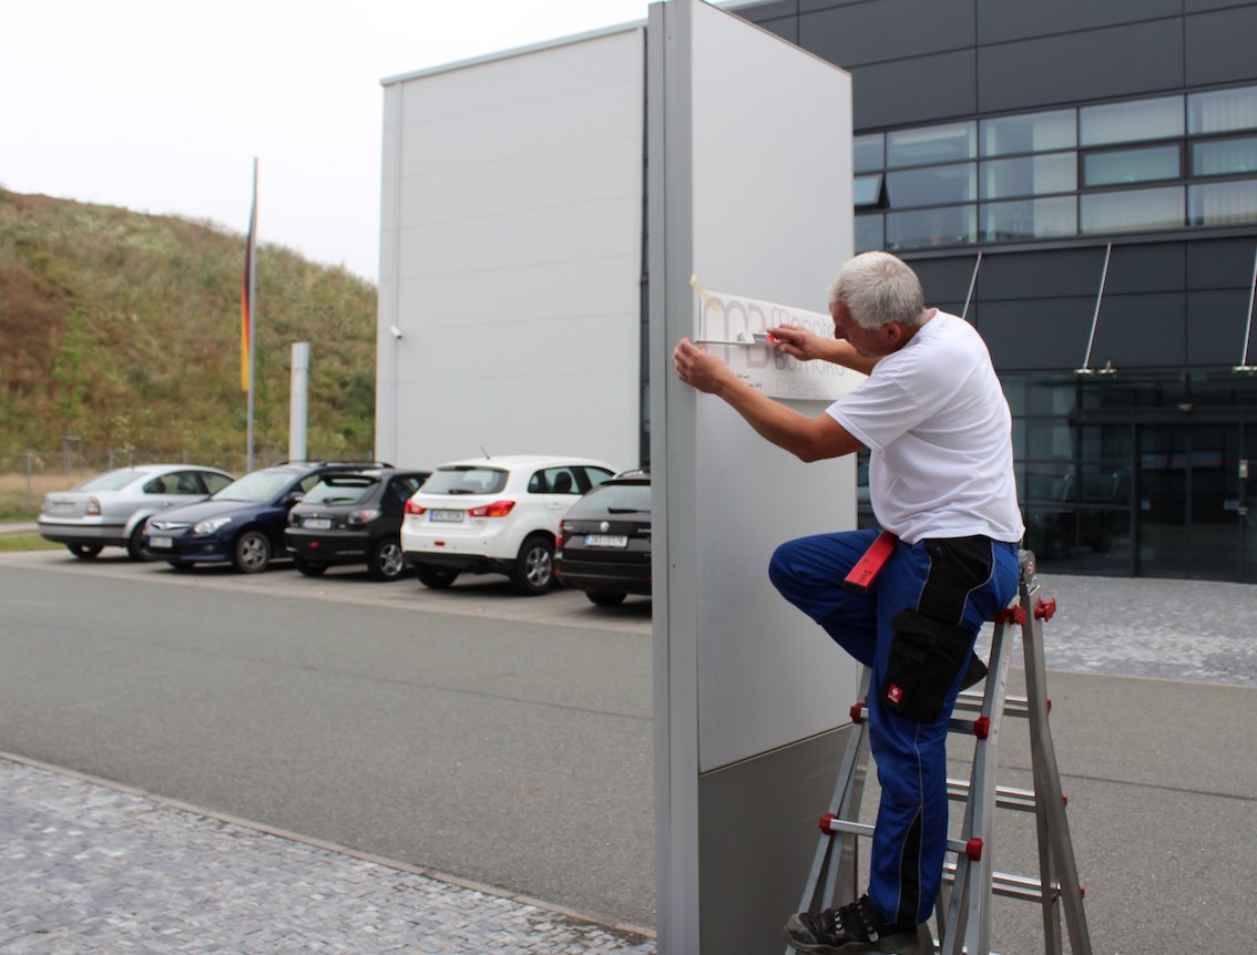
MULTIPOLYGON (((1037 613, 1036 594, 1038 579, 1035 576, 1033 554, 1023 555, 1022 597, 1027 601, 1026 623, 1022 627, 1022 652, 1026 663, 1026 690, 1029 701, 1031 764, 1033 767, 1035 790, 1037 793, 1038 816, 1046 826, 1047 843, 1040 843, 1041 868, 1046 868, 1043 878, 1043 922, 1045 932, 1048 922, 1055 926, 1058 937, 1060 927, 1055 911, 1050 907, 1051 898, 1060 898, 1065 911, 1066 929, 1070 936, 1071 955, 1091 955, 1091 939, 1087 931, 1086 914, 1082 909, 1082 890, 1079 886, 1077 863, 1073 856, 1073 843, 1070 838, 1070 824, 1065 813, 1065 794, 1061 790, 1061 775, 1056 761, 1056 749, 1052 745, 1052 733, 1047 715, 1047 675, 1043 662, 1043 623, 1037 613), (1048 857, 1047 866, 1042 860, 1048 857), (1050 888, 1060 885, 1058 892, 1050 888)), ((1041 839, 1043 829, 1041 828, 1041 839)), ((1060 942, 1057 941, 1057 946, 1060 942)), ((1057 949, 1058 950, 1058 949, 1057 949)))

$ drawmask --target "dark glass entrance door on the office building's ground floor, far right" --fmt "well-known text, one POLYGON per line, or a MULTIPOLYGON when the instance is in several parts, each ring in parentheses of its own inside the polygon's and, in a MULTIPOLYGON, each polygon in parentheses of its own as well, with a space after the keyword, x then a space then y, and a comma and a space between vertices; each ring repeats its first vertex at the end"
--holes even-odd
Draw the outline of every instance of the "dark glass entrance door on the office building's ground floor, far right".
POLYGON ((1246 485, 1252 479, 1239 476, 1239 451, 1238 423, 1139 426, 1136 573, 1246 579, 1246 552, 1253 547, 1246 485))

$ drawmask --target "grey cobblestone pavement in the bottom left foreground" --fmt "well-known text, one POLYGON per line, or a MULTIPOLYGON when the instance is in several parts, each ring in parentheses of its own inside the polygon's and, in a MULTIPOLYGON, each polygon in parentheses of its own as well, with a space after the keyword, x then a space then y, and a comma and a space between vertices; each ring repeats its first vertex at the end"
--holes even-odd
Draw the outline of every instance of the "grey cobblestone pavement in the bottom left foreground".
POLYGON ((646 955, 652 940, 0 759, 0 952, 646 955))

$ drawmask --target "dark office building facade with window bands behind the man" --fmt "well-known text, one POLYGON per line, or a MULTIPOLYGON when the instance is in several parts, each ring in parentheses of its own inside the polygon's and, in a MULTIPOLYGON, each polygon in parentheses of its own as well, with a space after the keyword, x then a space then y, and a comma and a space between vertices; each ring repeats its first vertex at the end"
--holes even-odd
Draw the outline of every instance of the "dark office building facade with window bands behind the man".
POLYGON ((852 73, 856 248, 989 344, 1042 569, 1257 582, 1257 3, 734 9, 852 73))

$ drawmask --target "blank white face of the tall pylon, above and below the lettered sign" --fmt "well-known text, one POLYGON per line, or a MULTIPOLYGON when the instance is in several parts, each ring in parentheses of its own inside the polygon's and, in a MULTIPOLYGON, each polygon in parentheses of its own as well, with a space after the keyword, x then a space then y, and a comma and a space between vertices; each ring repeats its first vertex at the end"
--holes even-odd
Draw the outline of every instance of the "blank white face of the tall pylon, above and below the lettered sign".
MULTIPOLYGON (((825 312, 852 251, 851 79, 711 6, 694 13, 694 270, 708 288, 825 312)), ((723 402, 696 405, 696 520, 719 555, 698 567, 706 772, 847 721, 855 666, 777 594, 768 560, 783 540, 854 528, 856 500, 854 459, 803 465, 723 402)))

